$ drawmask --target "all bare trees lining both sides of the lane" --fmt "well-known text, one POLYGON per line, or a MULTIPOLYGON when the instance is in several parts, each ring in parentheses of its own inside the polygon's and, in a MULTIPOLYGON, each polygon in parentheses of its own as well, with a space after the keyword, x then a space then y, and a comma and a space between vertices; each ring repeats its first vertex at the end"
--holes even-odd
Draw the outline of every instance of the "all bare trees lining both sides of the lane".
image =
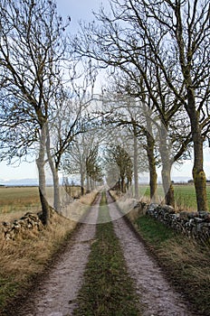
POLYGON ((174 205, 171 168, 193 148, 197 209, 207 209, 203 144, 210 128, 209 17, 207 0, 110 0, 109 13, 100 8, 98 23, 81 23, 81 32, 71 38, 71 19, 63 22, 54 1, 0 2, 1 159, 11 163, 36 153, 44 224, 49 217, 46 164, 59 211, 62 167, 80 170, 81 183, 84 173, 88 181, 101 181, 99 144, 83 146, 82 161, 76 153, 81 135, 90 138, 87 132, 97 125, 101 135, 102 124, 112 129, 104 127, 110 135, 104 132, 107 142, 102 141, 113 144, 110 157, 119 166, 121 152, 128 162, 129 168, 121 165, 122 191, 133 166, 138 198, 141 145, 148 156, 151 200, 157 199, 161 164, 166 202, 174 205), (90 107, 100 68, 108 70, 109 83, 100 106, 90 107), (132 144, 132 163, 126 146, 110 140, 115 128, 127 130, 122 134, 132 144))

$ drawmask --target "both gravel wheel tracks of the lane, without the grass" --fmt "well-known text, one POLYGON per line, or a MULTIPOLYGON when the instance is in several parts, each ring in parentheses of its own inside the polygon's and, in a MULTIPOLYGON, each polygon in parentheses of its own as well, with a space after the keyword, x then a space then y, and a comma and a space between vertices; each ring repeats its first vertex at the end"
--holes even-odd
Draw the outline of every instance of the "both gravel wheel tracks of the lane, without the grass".
MULTIPOLYGON (((134 280, 139 302, 144 307, 143 313, 139 316, 198 316, 197 313, 188 310, 187 302, 167 282, 128 221, 121 217, 116 203, 108 192, 106 196, 110 218, 115 234, 119 238, 128 272, 134 280)), ((95 237, 100 198, 99 194, 87 218, 88 222, 94 224, 83 223, 76 229, 62 256, 42 282, 36 284, 33 293, 28 295, 20 308, 17 308, 15 315, 72 315, 95 237)))

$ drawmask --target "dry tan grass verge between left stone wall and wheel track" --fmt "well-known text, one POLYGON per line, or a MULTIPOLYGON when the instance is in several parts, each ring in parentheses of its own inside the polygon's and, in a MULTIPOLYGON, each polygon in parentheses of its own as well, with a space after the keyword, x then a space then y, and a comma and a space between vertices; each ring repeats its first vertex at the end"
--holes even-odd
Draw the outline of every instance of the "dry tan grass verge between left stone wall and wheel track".
MULTIPOLYGON (((91 205, 95 196, 96 192, 88 194, 86 204, 91 205)), ((52 265, 76 226, 77 222, 54 213, 47 228, 25 231, 15 240, 0 240, 0 315, 11 315, 11 308, 52 265)))

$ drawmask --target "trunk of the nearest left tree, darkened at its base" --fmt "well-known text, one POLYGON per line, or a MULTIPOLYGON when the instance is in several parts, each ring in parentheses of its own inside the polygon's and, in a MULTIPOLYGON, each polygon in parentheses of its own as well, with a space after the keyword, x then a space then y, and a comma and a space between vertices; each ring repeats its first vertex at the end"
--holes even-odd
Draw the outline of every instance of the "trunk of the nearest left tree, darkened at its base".
POLYGON ((39 173, 39 194, 40 201, 43 210, 42 222, 43 225, 48 224, 49 219, 49 204, 46 199, 46 180, 44 172, 44 154, 45 154, 45 144, 46 144, 46 128, 43 125, 41 129, 41 139, 40 139, 40 148, 39 148, 39 157, 36 159, 36 165, 39 173))

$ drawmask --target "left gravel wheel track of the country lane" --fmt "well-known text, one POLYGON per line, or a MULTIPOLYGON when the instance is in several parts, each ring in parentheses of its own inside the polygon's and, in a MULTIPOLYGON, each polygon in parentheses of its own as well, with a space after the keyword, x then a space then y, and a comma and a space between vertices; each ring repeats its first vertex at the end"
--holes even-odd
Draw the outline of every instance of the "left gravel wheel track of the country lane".
MULTIPOLYGON (((100 197, 95 203, 100 202, 100 197)), ((91 209, 90 222, 97 221, 96 206, 91 209)), ((22 316, 67 316, 72 315, 75 299, 81 287, 82 276, 95 236, 95 225, 82 224, 71 239, 59 261, 52 268, 46 281, 36 284, 34 293, 25 302, 19 315, 22 316)))

